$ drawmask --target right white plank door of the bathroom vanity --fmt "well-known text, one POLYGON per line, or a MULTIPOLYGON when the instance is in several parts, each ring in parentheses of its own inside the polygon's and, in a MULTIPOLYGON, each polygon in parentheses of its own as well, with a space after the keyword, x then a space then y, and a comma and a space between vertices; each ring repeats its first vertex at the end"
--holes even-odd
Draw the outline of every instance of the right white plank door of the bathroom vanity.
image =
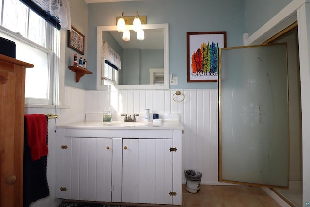
POLYGON ((123 139, 122 202, 172 204, 171 139, 123 139))

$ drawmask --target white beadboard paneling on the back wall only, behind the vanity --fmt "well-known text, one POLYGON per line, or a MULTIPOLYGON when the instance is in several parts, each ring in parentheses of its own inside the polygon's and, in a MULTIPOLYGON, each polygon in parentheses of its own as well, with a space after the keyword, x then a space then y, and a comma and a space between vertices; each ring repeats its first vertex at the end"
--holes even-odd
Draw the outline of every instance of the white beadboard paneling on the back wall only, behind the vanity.
MULTIPOLYGON (((220 184, 217 89, 181 92, 185 95, 184 101, 175 102, 172 99, 174 90, 86 91, 86 112, 103 112, 105 107, 111 107, 112 113, 128 115, 143 114, 147 108, 151 113, 179 113, 184 125, 183 169, 201 171, 202 184, 220 184)), ((181 96, 177 98, 181 100, 181 96)))

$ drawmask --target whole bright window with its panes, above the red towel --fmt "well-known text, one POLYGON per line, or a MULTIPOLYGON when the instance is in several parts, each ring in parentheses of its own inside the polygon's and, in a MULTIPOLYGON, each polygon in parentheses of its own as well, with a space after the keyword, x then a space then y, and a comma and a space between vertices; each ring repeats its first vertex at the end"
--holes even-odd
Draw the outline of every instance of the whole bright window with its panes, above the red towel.
POLYGON ((0 0, 0 36, 16 43, 16 59, 26 69, 25 103, 53 104, 60 32, 19 0, 0 0))

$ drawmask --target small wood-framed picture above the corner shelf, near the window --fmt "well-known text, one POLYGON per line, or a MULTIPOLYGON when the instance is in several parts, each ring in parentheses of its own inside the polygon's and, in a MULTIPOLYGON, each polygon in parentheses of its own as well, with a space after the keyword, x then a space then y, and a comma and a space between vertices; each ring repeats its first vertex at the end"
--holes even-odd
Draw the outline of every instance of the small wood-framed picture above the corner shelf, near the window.
POLYGON ((84 55, 85 36, 73 26, 68 32, 68 46, 84 55))

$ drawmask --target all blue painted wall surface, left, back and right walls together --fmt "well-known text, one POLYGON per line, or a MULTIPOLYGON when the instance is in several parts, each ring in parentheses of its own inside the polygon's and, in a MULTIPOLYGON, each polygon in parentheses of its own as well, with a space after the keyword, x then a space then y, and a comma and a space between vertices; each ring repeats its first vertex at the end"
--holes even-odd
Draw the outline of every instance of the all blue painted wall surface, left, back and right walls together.
POLYGON ((141 16, 147 16, 149 24, 169 24, 169 73, 179 77, 179 85, 171 86, 171 89, 217 88, 217 83, 187 83, 186 32, 227 31, 227 47, 241 46, 243 33, 253 34, 291 1, 153 0, 96 4, 72 2, 72 25, 86 36, 84 57, 88 60, 88 68, 93 74, 83 76, 79 83, 74 82, 75 74, 69 71, 67 66, 72 64, 75 51, 67 47, 65 85, 96 89, 96 27, 115 25, 116 16, 120 16, 122 12, 125 16, 134 16, 136 11, 139 11, 141 16))

